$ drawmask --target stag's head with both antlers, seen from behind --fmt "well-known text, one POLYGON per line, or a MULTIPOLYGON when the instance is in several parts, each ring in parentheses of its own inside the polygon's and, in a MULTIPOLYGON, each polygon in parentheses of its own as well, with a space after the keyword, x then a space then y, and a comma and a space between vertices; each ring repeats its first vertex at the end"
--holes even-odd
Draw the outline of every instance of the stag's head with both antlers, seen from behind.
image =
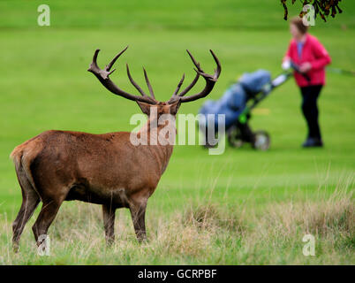
POLYGON ((110 74, 116 70, 116 69, 113 69, 111 71, 112 66, 115 64, 117 58, 120 57, 125 52, 125 50, 127 50, 127 48, 128 48, 128 46, 124 50, 119 52, 117 54, 117 56, 111 60, 110 64, 105 66, 104 69, 100 69, 100 67, 97 65, 96 60, 97 60, 97 56, 98 56, 100 50, 95 50, 93 61, 90 64, 87 71, 94 73, 94 75, 96 76, 96 78, 98 80, 100 80, 102 85, 105 88, 109 89, 110 92, 112 92, 113 94, 115 94, 117 96, 123 96, 127 99, 130 99, 130 100, 138 103, 138 105, 140 106, 140 110, 143 113, 147 114, 147 116, 150 119, 152 119, 152 117, 151 117, 152 113, 156 113, 156 115, 158 116, 156 118, 159 118, 159 116, 162 114, 171 114, 171 115, 175 116, 177 114, 178 108, 181 103, 192 102, 194 100, 208 96, 208 94, 214 88, 215 82, 218 80, 218 77, 221 73, 220 62, 212 50, 210 50, 210 52, 211 52, 212 56, 215 58, 215 63, 217 65, 217 68, 216 68, 215 73, 213 75, 210 75, 208 73, 204 73, 203 70, 200 68, 200 63, 196 62, 196 60, 194 59, 193 55, 190 53, 189 50, 186 50, 188 55, 193 60, 193 65, 195 65, 195 67, 196 67, 194 69, 196 71, 195 78, 193 79, 193 81, 191 82, 191 84, 189 86, 187 86, 184 90, 179 92, 179 90, 184 82, 184 79, 185 79, 185 74, 184 74, 182 79, 177 84, 177 88, 175 89, 170 100, 167 102, 159 102, 155 99, 155 94, 154 94, 153 88, 148 80, 146 70, 143 68, 144 77, 147 82, 147 88, 149 89, 150 96, 147 96, 147 94, 143 91, 143 89, 140 88, 140 86, 132 79, 130 69, 129 69, 128 65, 126 65, 128 78, 131 81, 134 88, 136 88, 140 92, 140 95, 141 95, 141 96, 134 96, 132 94, 125 92, 125 90, 118 88, 117 85, 112 80, 110 80, 110 74), (203 88, 202 91, 200 91, 200 93, 197 93, 193 96, 185 96, 193 88, 193 86, 199 80, 200 76, 202 76, 203 79, 206 80, 205 88, 203 88), (156 110, 152 111, 152 107, 156 107, 156 110))

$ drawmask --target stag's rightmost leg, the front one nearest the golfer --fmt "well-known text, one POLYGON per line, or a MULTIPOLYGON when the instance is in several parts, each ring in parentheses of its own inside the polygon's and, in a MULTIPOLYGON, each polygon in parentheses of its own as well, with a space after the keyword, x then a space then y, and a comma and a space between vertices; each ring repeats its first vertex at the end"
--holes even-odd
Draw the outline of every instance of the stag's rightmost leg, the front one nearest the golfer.
POLYGON ((147 208, 147 200, 140 203, 131 203, 130 210, 131 216, 134 226, 134 231, 137 235, 138 241, 146 241, 147 233, 146 233, 146 208, 147 208))

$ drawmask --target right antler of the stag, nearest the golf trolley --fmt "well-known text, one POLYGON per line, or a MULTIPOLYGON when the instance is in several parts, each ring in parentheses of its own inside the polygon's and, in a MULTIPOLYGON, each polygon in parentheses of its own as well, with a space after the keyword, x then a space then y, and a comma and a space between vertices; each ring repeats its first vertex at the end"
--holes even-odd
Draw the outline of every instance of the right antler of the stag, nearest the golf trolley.
POLYGON ((203 72, 203 70, 200 68, 200 63, 196 62, 195 58, 193 57, 193 55, 190 53, 189 50, 186 50, 186 51, 189 54, 189 56, 191 57, 191 59, 193 61, 193 65, 195 65, 195 67, 196 67, 196 69, 194 69, 196 71, 196 77, 193 79, 193 82, 187 88, 185 88, 180 94, 177 94, 179 89, 181 88, 181 85, 184 82, 184 79, 185 79, 185 74, 184 74, 182 79, 177 84, 177 89, 174 91, 174 94, 171 96, 168 103, 174 103, 177 100, 180 100, 181 103, 187 103, 187 102, 191 102, 191 101, 200 99, 202 97, 208 96, 208 94, 215 87, 215 82, 218 80, 218 77, 221 74, 221 64, 220 64, 218 58, 215 56, 215 53, 212 50, 209 50, 209 51, 211 52, 212 56, 214 57, 215 64, 217 65, 217 69, 215 70, 215 73, 213 75, 203 72), (193 88, 193 86, 196 84, 197 80, 199 80, 200 76, 202 76, 206 80, 205 88, 203 88, 203 90, 198 94, 195 94, 193 96, 185 96, 185 94, 187 92, 189 92, 191 88, 193 88))

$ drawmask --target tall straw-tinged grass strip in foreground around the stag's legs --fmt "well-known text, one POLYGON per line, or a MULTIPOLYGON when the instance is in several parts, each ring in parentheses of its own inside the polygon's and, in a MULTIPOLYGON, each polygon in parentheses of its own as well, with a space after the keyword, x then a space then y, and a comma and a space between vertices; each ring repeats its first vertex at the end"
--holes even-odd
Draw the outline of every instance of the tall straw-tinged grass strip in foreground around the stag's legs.
MULTIPOLYGON (((11 223, 2 215, 1 264, 354 264, 354 176, 336 190, 304 201, 270 201, 258 207, 253 197, 239 207, 208 200, 164 214, 147 213, 148 241, 136 241, 127 210, 117 211, 115 244, 104 243, 99 206, 64 205, 49 229, 50 256, 38 256, 27 225, 20 250, 11 250, 11 223), (315 237, 315 256, 304 256, 302 238, 315 237)), ((34 222, 32 219, 30 222, 34 222)))

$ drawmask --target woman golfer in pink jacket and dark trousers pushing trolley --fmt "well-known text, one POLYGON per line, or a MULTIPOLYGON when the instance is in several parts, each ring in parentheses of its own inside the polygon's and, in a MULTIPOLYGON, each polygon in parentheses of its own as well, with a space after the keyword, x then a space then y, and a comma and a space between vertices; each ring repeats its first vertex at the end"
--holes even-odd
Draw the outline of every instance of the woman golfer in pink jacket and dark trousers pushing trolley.
POLYGON ((308 126, 308 135, 303 147, 321 147, 321 129, 318 123, 317 99, 321 88, 325 84, 325 66, 330 63, 330 57, 313 35, 307 34, 308 27, 301 18, 291 19, 290 32, 292 39, 289 49, 283 57, 283 63, 290 60, 299 66, 301 73, 294 73, 294 77, 302 94, 302 111, 308 126), (306 74, 308 80, 306 80, 306 74))

